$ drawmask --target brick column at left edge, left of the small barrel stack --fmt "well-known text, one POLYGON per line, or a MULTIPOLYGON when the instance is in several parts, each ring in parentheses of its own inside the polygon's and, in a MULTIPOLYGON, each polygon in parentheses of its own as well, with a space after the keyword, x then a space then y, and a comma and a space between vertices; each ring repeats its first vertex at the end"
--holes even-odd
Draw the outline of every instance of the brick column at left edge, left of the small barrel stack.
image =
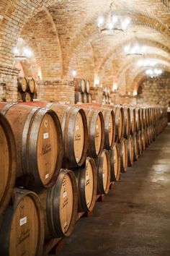
POLYGON ((18 69, 0 65, 0 101, 17 101, 18 69))

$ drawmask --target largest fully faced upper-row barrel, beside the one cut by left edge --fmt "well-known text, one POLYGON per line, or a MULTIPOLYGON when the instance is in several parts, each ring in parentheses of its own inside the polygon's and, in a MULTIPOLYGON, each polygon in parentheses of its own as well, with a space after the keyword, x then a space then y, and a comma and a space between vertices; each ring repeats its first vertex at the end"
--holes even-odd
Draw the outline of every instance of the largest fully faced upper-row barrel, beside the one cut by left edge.
POLYGON ((63 158, 61 124, 47 108, 0 103, 14 132, 17 145, 17 176, 32 176, 37 187, 55 183, 63 158))

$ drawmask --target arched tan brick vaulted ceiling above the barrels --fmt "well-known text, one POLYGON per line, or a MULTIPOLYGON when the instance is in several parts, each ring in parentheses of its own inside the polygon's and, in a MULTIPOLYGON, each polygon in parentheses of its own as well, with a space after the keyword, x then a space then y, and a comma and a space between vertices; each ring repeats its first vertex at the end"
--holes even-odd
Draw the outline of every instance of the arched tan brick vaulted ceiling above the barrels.
POLYGON ((22 37, 35 58, 24 64, 35 78, 43 80, 79 77, 104 85, 117 82, 122 90, 134 90, 145 74, 138 67, 141 56, 126 56, 130 42, 145 44, 145 58, 155 59, 158 67, 170 71, 170 11, 161 0, 113 1, 117 14, 131 18, 126 33, 102 35, 97 28, 99 14, 109 12, 109 0, 1 0, 0 61, 14 67, 12 48, 22 37), (31 71, 30 71, 31 70, 31 71))

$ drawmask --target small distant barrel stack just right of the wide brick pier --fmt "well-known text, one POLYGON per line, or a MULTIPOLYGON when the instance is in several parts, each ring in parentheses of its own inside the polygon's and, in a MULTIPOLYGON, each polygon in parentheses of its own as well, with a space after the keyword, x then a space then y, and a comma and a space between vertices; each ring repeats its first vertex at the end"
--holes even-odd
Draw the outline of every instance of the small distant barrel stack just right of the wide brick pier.
POLYGON ((90 94, 90 83, 88 80, 74 78, 75 103, 89 103, 92 101, 90 94))

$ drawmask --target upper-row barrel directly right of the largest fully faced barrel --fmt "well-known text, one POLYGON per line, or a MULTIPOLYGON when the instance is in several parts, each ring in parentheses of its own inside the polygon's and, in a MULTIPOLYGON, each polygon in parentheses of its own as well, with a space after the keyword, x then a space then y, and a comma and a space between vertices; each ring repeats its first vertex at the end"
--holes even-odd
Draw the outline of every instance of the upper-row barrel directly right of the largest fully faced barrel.
MULTIPOLYGON (((58 115, 63 131, 63 168, 82 166, 86 159, 88 129, 86 115, 78 106, 58 103, 31 102, 29 106, 50 108, 58 115)), ((83 106, 83 105, 81 105, 83 106)))

